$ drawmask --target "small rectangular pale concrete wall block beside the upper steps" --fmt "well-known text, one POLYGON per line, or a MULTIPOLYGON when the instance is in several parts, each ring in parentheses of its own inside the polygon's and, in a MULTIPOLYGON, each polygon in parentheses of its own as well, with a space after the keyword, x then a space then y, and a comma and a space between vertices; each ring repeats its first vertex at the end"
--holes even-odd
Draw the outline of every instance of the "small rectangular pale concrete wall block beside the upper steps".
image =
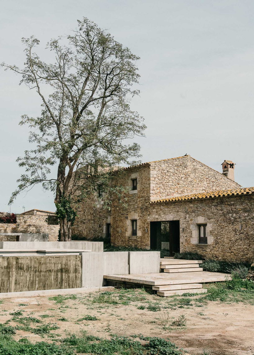
POLYGON ((130 274, 148 274, 160 272, 159 251, 129 251, 128 264, 130 274))

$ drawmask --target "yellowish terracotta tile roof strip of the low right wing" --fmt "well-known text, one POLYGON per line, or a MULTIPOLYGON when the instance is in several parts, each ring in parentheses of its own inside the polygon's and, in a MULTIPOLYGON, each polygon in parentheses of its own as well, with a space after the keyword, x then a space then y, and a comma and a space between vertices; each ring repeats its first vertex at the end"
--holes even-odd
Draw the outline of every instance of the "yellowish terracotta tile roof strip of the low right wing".
POLYGON ((210 192, 193 193, 192 195, 176 196, 176 197, 164 198, 162 200, 155 200, 155 201, 151 201, 150 203, 190 201, 190 200, 200 200, 202 198, 251 195, 252 193, 254 193, 254 187, 244 187, 242 189, 218 190, 218 191, 210 191, 210 192))

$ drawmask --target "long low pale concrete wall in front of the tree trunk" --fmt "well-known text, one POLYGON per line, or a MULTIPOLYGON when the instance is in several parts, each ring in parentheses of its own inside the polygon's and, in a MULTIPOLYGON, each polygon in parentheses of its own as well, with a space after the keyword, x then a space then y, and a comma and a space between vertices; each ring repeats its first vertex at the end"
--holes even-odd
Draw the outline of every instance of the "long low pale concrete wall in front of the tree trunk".
POLYGON ((81 249, 103 251, 103 242, 90 242, 87 240, 71 242, 0 242, 0 249, 81 249))

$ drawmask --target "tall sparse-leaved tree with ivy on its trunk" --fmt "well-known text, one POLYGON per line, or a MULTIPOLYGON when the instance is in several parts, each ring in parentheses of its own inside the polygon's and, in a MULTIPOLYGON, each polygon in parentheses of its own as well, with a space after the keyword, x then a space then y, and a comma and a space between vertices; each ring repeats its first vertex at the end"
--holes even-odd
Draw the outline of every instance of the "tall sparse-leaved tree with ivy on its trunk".
POLYGON ((132 164, 130 159, 139 157, 139 145, 126 143, 127 138, 143 136, 145 129, 143 118, 129 106, 130 99, 139 94, 132 88, 139 80, 139 58, 87 18, 78 21, 71 35, 48 43, 54 64, 34 53, 38 39, 22 41, 23 69, 1 65, 20 74, 20 83, 36 90, 42 110, 39 117, 21 117, 20 124, 32 129, 29 142, 36 143, 36 149, 17 158, 26 173, 17 180, 9 203, 36 184, 55 191, 60 240, 68 241, 76 215, 74 201, 87 196, 96 185, 107 185, 113 166, 132 164), (55 164, 57 176, 51 178, 55 164))

